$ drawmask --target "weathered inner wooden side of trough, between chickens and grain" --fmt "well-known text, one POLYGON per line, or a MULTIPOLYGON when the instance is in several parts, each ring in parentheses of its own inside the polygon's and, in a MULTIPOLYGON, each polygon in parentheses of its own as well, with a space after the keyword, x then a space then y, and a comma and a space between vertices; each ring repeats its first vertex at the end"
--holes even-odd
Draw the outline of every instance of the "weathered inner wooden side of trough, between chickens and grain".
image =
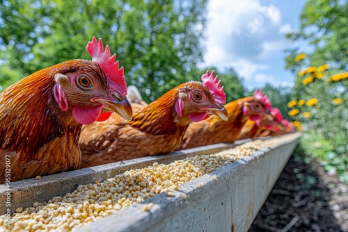
POLYGON ((11 213, 16 208, 26 208, 32 206, 35 201, 45 202, 56 196, 64 196, 68 192, 74 191, 79 185, 94 183, 95 181, 104 181, 123 173, 129 169, 143 168, 153 163, 172 163, 174 160, 180 160, 189 156, 197 156, 202 154, 211 154, 235 147, 251 140, 240 140, 230 144, 213 144, 205 147, 197 147, 182 151, 175 151, 171 154, 161 156, 148 156, 137 158, 134 160, 125 160, 122 162, 100 165, 75 170, 72 172, 63 172, 49 176, 42 176, 38 179, 27 179, 10 183, 10 188, 6 188, 5 184, 0 185, 0 215, 6 213, 6 193, 11 194, 11 213))

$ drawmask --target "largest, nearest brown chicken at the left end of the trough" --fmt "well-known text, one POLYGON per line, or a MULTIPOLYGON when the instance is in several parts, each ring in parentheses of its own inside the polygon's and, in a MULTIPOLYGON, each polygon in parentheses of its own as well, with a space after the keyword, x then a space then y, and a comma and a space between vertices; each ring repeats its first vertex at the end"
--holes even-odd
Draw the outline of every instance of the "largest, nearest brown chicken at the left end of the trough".
POLYGON ((69 60, 26 76, 0 93, 1 183, 79 168, 82 124, 116 112, 132 119, 116 54, 88 42, 89 60, 69 60))

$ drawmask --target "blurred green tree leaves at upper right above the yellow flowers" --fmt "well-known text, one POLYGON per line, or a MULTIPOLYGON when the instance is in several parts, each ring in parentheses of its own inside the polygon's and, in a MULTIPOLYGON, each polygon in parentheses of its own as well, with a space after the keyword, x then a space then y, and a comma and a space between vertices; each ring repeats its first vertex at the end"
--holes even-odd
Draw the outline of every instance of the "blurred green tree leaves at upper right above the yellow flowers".
MULTIPOLYGON (((308 54, 310 66, 332 63, 338 69, 348 69, 348 3, 339 0, 309 0, 301 13, 301 29, 287 34, 293 41, 306 40, 315 50, 308 54)), ((299 49, 288 51, 287 68, 295 71, 299 49)))

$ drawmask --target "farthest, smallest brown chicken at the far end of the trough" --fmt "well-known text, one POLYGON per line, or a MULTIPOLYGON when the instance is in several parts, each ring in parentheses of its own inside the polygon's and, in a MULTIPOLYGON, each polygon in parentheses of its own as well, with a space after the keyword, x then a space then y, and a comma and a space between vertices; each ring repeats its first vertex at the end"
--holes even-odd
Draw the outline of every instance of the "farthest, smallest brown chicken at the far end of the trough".
POLYGON ((237 140, 243 140, 246 138, 274 136, 276 133, 282 133, 285 130, 285 126, 281 123, 283 116, 278 108, 271 108, 271 115, 273 119, 263 117, 256 121, 248 119, 244 124, 242 131, 239 133, 237 140))

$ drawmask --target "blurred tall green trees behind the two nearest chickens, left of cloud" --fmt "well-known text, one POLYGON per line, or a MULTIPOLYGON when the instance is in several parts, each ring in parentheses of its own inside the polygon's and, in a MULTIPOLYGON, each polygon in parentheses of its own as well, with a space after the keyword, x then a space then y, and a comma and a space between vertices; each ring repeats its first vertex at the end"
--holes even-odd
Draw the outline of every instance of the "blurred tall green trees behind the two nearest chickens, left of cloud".
POLYGON ((0 5, 0 85, 38 69, 88 58, 93 36, 109 44, 128 84, 153 100, 202 60, 206 0, 12 0, 0 5))

